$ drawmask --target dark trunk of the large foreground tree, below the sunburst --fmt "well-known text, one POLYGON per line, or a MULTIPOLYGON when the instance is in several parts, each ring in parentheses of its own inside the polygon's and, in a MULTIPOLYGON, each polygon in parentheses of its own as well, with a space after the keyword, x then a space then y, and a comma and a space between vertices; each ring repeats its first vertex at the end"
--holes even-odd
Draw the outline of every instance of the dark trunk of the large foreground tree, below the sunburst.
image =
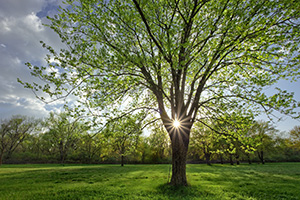
POLYGON ((171 185, 187 186, 186 157, 189 146, 190 130, 175 129, 170 134, 172 143, 172 178, 171 185))

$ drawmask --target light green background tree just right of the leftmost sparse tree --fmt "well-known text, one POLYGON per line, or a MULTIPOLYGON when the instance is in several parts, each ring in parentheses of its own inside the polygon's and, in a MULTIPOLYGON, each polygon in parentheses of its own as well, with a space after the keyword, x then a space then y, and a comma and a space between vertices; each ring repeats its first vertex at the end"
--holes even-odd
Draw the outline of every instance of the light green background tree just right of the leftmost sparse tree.
POLYGON ((88 130, 88 126, 80 123, 79 118, 71 120, 67 113, 50 113, 45 126, 48 131, 43 135, 51 145, 52 152, 59 154, 59 160, 64 163, 69 152, 75 149, 79 135, 88 130))

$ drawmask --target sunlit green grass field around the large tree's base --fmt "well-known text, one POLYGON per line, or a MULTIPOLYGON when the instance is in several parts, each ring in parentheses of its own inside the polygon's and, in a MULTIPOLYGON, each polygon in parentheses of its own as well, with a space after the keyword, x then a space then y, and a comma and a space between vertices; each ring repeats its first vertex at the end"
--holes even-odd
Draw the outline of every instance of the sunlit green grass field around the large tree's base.
POLYGON ((169 167, 2 165, 0 199, 300 199, 300 163, 187 165, 177 188, 169 167))

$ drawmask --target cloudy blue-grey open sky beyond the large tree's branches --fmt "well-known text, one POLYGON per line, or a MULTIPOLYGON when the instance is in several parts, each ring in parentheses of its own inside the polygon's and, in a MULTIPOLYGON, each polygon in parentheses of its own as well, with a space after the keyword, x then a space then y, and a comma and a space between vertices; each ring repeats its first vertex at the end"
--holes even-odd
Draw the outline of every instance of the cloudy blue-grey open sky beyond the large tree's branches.
MULTIPOLYGON (((45 104, 17 82, 17 78, 24 82, 37 81, 25 63, 45 63, 47 51, 40 41, 54 49, 63 48, 59 37, 43 26, 49 23, 46 16, 57 13, 59 5, 65 6, 61 0, 0 0, 0 119, 18 114, 42 118, 50 111, 61 110, 62 102, 45 104)), ((295 99, 300 101, 300 81, 282 81, 277 86, 294 92, 295 99)), ((300 121, 278 116, 283 117, 275 124, 280 131, 300 125, 300 121)))

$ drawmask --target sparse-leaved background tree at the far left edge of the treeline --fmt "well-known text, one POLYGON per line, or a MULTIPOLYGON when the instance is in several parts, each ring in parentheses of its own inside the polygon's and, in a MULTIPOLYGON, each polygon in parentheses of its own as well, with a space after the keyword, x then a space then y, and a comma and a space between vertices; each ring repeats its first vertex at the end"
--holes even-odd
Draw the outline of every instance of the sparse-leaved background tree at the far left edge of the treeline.
POLYGON ((0 165, 3 156, 9 158, 16 148, 37 126, 37 121, 26 116, 13 116, 0 124, 0 165))

